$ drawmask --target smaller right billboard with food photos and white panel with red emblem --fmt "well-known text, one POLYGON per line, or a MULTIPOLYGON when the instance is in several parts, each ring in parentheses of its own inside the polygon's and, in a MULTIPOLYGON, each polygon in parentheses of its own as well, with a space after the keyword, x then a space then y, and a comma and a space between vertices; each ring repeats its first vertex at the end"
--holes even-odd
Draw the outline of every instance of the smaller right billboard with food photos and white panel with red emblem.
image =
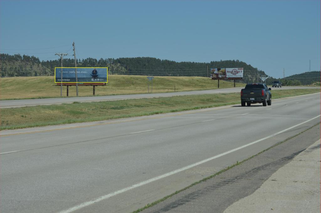
POLYGON ((215 79, 241 79, 243 68, 211 68, 211 78, 215 79))

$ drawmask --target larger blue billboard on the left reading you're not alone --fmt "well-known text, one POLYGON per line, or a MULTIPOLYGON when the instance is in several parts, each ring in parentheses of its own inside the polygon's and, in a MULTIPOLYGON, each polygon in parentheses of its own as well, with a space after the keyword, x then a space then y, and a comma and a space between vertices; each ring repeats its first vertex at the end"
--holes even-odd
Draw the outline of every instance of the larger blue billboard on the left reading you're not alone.
POLYGON ((55 83, 108 83, 108 67, 55 67, 55 83))

